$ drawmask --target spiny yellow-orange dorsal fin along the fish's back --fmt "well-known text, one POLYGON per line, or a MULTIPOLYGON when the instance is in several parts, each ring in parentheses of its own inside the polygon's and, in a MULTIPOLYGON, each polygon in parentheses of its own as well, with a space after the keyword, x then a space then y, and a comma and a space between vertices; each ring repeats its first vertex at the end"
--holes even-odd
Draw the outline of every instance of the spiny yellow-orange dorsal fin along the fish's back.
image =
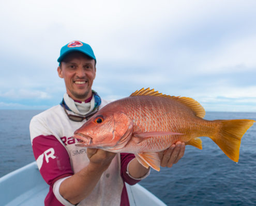
POLYGON ((147 89, 142 88, 139 91, 137 90, 133 92, 130 96, 159 96, 159 97, 174 99, 175 101, 178 101, 181 104, 189 107, 194 112, 195 116, 203 118, 205 115, 205 110, 202 107, 202 105, 200 105, 198 101, 195 101, 194 99, 189 97, 170 96, 170 95, 159 93, 154 89, 150 90, 149 88, 147 89))

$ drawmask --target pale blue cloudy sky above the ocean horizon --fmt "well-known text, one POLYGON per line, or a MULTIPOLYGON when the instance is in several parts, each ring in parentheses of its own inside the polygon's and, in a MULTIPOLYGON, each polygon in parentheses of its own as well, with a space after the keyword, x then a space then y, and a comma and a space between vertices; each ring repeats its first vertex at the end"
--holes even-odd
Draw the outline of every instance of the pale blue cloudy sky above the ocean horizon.
POLYGON ((207 111, 256 112, 256 1, 0 3, 0 109, 48 109, 66 92, 62 46, 97 59, 93 89, 109 100, 151 88, 207 111))

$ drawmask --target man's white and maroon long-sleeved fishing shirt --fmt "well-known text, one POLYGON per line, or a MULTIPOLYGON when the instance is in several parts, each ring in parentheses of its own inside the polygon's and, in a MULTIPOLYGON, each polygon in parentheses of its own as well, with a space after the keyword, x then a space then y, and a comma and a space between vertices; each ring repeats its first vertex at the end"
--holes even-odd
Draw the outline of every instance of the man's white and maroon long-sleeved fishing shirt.
MULTIPOLYGON (((94 96, 89 103, 74 102, 67 94, 64 95, 64 100, 72 110, 68 113, 73 115, 78 115, 78 108, 88 107, 90 112, 95 105, 94 96)), ((102 100, 99 109, 105 105, 107 101, 102 100)), ((78 173, 89 163, 86 148, 75 146, 77 140, 72 138, 73 132, 85 122, 86 120, 71 121, 61 105, 52 107, 31 120, 29 129, 34 156, 43 179, 50 185, 45 205, 73 205, 59 194, 59 186, 65 178, 78 173)), ((135 179, 127 173, 127 165, 133 158, 132 154, 117 154, 92 193, 78 205, 129 205, 124 182, 132 185, 148 175, 135 179)))

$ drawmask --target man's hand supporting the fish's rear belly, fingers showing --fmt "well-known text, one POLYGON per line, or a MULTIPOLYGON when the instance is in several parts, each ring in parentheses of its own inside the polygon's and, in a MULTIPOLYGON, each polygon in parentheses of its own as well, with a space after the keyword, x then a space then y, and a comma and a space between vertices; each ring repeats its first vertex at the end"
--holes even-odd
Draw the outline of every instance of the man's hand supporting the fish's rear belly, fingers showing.
POLYGON ((161 161, 160 165, 162 167, 172 167, 173 164, 176 164, 184 156, 184 152, 185 143, 176 142, 168 149, 158 152, 161 161))

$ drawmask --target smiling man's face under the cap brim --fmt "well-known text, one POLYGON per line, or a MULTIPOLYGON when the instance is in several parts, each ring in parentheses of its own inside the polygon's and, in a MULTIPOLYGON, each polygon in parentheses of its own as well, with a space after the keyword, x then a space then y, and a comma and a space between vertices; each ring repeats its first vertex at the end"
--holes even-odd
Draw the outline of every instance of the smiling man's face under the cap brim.
POLYGON ((92 96, 92 85, 96 75, 95 60, 73 52, 68 54, 57 68, 58 76, 64 78, 67 94, 80 101, 92 96))

